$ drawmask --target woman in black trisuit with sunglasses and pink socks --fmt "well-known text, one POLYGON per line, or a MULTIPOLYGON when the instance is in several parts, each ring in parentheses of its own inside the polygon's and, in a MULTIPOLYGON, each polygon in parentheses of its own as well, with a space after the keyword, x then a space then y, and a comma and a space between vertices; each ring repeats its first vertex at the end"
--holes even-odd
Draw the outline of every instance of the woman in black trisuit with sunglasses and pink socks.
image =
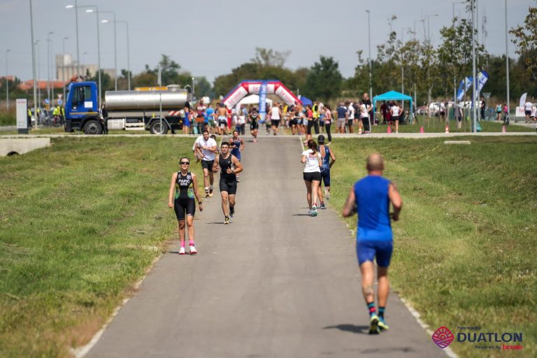
POLYGON ((182 157, 179 161, 181 169, 171 176, 170 193, 168 198, 169 208, 176 211, 177 221, 179 223, 179 240, 181 248, 179 255, 185 255, 185 214, 188 226, 188 241, 190 246, 190 255, 196 255, 194 246, 194 213, 196 212, 196 202, 199 204, 199 211, 203 211, 200 196, 198 194, 198 180, 196 174, 189 172, 190 159, 182 157), (175 199, 174 194, 175 192, 175 199))

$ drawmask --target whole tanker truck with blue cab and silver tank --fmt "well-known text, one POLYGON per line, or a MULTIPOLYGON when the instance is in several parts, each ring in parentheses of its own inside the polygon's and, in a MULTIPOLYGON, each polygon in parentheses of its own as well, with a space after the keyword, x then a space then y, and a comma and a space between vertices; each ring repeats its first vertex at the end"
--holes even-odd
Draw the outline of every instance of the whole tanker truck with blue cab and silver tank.
POLYGON ((101 108, 96 83, 73 82, 67 90, 64 126, 67 132, 106 134, 110 129, 120 129, 147 130, 152 134, 166 134, 171 130, 173 133, 182 129, 180 113, 188 106, 187 90, 173 87, 166 91, 106 91, 101 108))

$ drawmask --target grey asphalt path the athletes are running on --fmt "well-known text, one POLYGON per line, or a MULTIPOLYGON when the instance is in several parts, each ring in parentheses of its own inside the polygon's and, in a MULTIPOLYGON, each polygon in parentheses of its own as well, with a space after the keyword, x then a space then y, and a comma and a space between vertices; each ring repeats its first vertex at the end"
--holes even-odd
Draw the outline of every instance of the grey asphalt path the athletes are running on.
POLYGON ((298 138, 247 142, 231 224, 216 189, 199 254, 174 241, 86 357, 445 357, 396 294, 390 330, 367 334, 355 239, 331 208, 306 215, 300 154, 298 138))

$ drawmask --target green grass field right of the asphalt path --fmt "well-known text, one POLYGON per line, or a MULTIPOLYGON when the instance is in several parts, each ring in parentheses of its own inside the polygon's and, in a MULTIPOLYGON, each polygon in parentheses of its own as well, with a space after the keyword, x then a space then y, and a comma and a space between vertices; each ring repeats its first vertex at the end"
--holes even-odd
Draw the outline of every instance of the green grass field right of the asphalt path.
MULTIPOLYGON (((523 355, 536 357, 537 139, 465 139, 471 145, 335 139, 331 201, 341 210, 352 183, 366 175, 366 156, 384 155, 385 176, 403 196, 393 287, 433 329, 522 331, 523 355)), ((356 229, 355 218, 347 222, 356 229)), ((471 343, 450 347, 461 357, 482 357, 471 343)))

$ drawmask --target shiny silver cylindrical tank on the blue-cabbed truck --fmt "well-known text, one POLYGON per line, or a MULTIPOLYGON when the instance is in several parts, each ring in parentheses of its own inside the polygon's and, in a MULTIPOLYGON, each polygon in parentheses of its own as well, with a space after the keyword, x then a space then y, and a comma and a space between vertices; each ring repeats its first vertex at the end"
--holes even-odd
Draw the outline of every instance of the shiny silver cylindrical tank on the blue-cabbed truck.
POLYGON ((178 109, 188 101, 187 90, 173 91, 106 91, 106 110, 158 110, 162 96, 162 109, 178 109))

